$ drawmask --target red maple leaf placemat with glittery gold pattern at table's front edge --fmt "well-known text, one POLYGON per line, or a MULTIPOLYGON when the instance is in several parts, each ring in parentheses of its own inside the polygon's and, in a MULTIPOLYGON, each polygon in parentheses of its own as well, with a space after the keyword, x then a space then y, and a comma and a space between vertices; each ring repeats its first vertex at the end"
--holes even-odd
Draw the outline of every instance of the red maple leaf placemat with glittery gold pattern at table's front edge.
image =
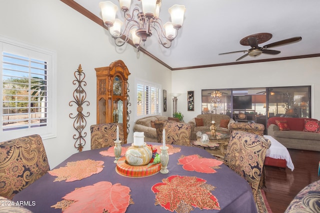
POLYGON ((152 186, 155 204, 165 210, 177 213, 189 213, 194 208, 200 210, 220 210, 217 199, 211 194, 216 187, 196 177, 170 176, 162 179, 162 183, 152 186))

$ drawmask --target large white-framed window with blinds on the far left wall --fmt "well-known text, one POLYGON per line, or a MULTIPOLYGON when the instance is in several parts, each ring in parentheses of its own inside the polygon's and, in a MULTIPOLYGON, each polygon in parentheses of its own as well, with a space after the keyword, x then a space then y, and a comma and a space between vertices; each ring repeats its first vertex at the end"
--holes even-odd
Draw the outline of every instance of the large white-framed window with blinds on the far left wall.
POLYGON ((1 140, 54 137, 55 53, 1 37, 0 49, 1 140))

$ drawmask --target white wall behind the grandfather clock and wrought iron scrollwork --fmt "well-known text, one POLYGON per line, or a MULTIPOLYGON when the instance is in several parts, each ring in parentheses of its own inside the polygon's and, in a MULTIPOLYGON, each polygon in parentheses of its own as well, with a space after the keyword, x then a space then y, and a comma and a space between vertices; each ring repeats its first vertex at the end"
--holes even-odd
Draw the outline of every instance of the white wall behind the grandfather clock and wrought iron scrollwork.
MULTIPOLYGON (((86 75, 84 90, 86 100, 90 102, 89 106, 83 106, 83 113, 90 113, 83 131, 87 133, 84 150, 90 149, 89 127, 96 123, 95 67, 108 66, 120 59, 131 73, 128 79, 131 102, 128 142, 133 140, 134 79, 156 82, 170 92, 170 70, 142 53, 136 54, 130 45, 124 45, 125 51, 116 51, 105 29, 59 0, 1 1, 0 20, 0 35, 57 53, 57 137, 43 140, 50 168, 77 152, 72 138, 77 132, 73 129, 73 119, 69 118, 69 113, 76 114, 76 107, 70 107, 68 103, 73 100, 72 93, 76 88, 72 84, 73 73, 79 64, 86 75)), ((167 108, 171 108, 170 102, 167 108)))

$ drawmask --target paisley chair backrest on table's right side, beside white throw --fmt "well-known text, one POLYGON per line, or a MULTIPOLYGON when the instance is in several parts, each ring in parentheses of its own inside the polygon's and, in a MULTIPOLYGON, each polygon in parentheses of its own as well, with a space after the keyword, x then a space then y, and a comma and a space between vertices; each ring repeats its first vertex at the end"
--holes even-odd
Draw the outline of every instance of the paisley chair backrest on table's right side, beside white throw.
POLYGON ((231 133, 224 156, 224 164, 244 178, 257 199, 265 152, 271 142, 262 136, 243 131, 231 133))

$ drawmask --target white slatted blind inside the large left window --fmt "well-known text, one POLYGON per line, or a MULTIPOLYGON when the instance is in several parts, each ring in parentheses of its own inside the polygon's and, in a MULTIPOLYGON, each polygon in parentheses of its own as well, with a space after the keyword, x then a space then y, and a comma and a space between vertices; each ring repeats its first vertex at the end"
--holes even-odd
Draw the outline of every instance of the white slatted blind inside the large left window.
POLYGON ((46 62, 2 53, 3 131, 46 126, 46 62))

